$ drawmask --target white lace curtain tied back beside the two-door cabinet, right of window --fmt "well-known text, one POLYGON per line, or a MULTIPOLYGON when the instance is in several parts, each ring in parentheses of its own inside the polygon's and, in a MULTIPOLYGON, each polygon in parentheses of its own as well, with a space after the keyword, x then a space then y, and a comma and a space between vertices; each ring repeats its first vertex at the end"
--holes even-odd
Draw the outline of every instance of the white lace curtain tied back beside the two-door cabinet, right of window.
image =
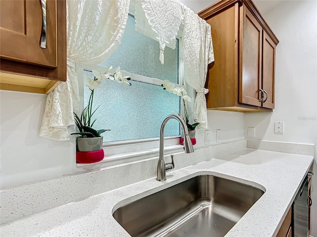
POLYGON ((186 8, 184 17, 183 61, 184 78, 196 90, 194 120, 208 127, 205 95, 209 92, 205 82, 208 64, 214 62, 211 26, 191 9, 186 8))

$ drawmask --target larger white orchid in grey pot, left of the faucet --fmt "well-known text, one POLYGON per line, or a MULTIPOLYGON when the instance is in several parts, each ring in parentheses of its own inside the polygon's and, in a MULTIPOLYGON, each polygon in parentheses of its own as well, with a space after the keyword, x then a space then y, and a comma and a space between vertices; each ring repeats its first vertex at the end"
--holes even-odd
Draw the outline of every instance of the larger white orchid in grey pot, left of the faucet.
POLYGON ((88 76, 85 77, 86 85, 91 90, 91 94, 89 97, 88 105, 84 108, 81 115, 78 116, 74 112, 74 120, 78 128, 78 132, 71 133, 70 135, 79 135, 77 137, 77 150, 79 152, 91 152, 91 151, 99 151, 103 146, 103 137, 102 133, 106 131, 110 131, 110 129, 100 129, 96 130, 93 128, 97 118, 93 118, 94 114, 101 106, 99 105, 95 110, 93 110, 93 101, 94 101, 94 93, 96 88, 101 87, 101 83, 106 79, 114 80, 118 83, 123 83, 124 86, 131 85, 129 80, 130 77, 123 77, 120 71, 120 67, 115 69, 115 72, 112 75, 112 66, 109 67, 106 72, 99 72, 97 70, 93 70, 94 79, 88 76))

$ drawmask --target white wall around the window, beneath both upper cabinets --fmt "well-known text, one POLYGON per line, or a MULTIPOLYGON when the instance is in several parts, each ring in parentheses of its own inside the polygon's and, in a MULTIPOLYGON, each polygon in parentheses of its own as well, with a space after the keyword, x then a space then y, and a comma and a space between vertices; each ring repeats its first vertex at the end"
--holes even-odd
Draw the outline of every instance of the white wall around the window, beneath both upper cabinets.
MULTIPOLYGON (((85 172, 75 163, 74 138, 54 141, 39 136, 45 101, 46 95, 0 91, 1 189, 85 172)), ((215 144, 215 129, 222 129, 222 142, 244 139, 243 114, 209 111, 208 118, 210 145, 215 144)), ((196 137, 195 147, 206 147, 203 129, 196 137)))

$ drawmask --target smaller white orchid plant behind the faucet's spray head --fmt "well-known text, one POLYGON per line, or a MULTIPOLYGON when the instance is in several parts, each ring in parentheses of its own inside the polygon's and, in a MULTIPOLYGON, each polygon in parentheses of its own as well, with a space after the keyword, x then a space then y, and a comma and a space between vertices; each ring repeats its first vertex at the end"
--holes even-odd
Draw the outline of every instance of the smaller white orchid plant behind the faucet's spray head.
MULTIPOLYGON (((191 102, 192 99, 190 98, 189 95, 187 95, 187 91, 184 89, 184 87, 175 87, 175 84, 173 82, 170 82, 169 80, 163 80, 163 83, 161 84, 161 86, 163 87, 164 90, 167 90, 170 93, 173 93, 177 96, 180 96, 182 98, 182 102, 183 102, 183 107, 184 107, 184 121, 186 122, 188 131, 189 131, 189 136, 191 138, 195 138, 195 129, 197 126, 199 126, 199 122, 195 122, 193 124, 189 123, 189 116, 187 113, 187 109, 186 109, 186 102, 191 102)), ((177 112, 178 115, 180 115, 177 112)))

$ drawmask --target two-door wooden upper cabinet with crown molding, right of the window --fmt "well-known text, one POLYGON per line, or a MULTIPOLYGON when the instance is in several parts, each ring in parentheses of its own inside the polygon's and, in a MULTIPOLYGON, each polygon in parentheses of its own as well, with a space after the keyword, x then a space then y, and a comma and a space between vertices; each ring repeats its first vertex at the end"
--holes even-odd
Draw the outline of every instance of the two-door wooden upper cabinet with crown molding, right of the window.
POLYGON ((250 0, 219 0, 198 13, 211 25, 214 65, 207 108, 238 112, 274 108, 277 38, 250 0))

